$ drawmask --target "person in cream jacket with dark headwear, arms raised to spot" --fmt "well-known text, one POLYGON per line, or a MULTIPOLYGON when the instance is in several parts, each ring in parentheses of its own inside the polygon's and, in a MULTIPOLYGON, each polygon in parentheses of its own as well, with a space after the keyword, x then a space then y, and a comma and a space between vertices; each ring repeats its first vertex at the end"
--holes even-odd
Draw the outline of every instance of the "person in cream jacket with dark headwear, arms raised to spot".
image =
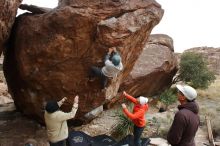
POLYGON ((76 96, 74 98, 73 107, 69 113, 59 110, 66 99, 67 98, 64 97, 58 102, 48 101, 46 104, 44 118, 50 146, 66 146, 66 139, 69 135, 67 120, 75 117, 79 97, 76 96))

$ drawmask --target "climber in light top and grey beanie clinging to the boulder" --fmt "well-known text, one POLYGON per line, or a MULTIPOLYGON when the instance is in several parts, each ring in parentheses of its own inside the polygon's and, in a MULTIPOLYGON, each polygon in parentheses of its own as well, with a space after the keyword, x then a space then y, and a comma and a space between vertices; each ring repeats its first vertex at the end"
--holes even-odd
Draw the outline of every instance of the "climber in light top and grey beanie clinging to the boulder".
POLYGON ((102 89, 104 89, 107 86, 108 78, 117 77, 118 73, 123 69, 121 56, 116 50, 116 47, 109 48, 108 53, 105 56, 104 62, 105 62, 105 66, 103 66, 102 68, 92 66, 89 73, 90 81, 94 77, 101 78, 102 89))

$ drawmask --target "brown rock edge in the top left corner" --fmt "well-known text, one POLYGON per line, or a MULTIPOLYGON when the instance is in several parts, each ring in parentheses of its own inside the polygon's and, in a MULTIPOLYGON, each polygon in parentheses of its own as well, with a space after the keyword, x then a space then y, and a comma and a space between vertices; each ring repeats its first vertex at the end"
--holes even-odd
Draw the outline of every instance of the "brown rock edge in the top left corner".
POLYGON ((14 23, 17 9, 22 0, 1 0, 0 1, 0 55, 5 48, 11 27, 14 23))

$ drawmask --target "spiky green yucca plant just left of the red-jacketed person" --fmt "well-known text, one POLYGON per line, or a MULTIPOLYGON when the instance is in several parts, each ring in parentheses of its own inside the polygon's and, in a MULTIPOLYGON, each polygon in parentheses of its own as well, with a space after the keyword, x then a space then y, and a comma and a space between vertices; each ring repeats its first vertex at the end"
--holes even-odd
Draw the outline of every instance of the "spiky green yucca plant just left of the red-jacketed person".
MULTIPOLYGON (((132 109, 132 106, 128 107, 129 111, 132 109)), ((117 122, 112 126, 111 135, 117 140, 121 140, 128 134, 133 132, 134 124, 133 122, 124 115, 122 110, 115 113, 115 116, 118 118, 117 122)))

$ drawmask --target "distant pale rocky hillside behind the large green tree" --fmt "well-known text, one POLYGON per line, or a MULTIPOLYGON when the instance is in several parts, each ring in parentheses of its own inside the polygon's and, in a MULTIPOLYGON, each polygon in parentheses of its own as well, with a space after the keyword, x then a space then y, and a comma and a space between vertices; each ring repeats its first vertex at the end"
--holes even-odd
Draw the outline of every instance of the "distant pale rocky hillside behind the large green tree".
POLYGON ((220 75, 220 48, 197 47, 184 52, 195 52, 204 56, 208 61, 208 68, 215 74, 220 75))

